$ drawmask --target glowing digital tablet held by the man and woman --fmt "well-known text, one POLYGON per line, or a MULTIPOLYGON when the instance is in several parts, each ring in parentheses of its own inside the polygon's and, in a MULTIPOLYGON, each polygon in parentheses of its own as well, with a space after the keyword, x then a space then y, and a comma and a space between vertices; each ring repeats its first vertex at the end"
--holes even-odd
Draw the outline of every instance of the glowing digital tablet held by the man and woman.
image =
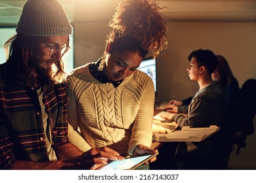
POLYGON ((100 167, 98 170, 133 170, 146 163, 150 159, 157 156, 156 154, 147 154, 142 156, 133 156, 129 158, 125 158, 121 161, 111 161, 110 163, 100 167))

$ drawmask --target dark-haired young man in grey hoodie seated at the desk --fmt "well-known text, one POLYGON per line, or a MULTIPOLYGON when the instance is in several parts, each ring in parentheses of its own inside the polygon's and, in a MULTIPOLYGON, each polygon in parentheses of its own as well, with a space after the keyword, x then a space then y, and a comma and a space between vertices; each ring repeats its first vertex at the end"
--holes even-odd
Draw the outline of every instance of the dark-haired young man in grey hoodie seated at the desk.
MULTIPOLYGON (((188 107, 188 116, 171 113, 161 116, 179 124, 179 127, 209 127, 221 125, 224 120, 225 97, 223 87, 213 81, 211 74, 217 67, 217 58, 211 50, 194 50, 189 56, 190 80, 198 82, 199 90, 188 107)), ((175 154, 177 169, 216 169, 217 135, 202 142, 179 142, 175 154)), ((161 153, 161 152, 160 152, 161 153)))

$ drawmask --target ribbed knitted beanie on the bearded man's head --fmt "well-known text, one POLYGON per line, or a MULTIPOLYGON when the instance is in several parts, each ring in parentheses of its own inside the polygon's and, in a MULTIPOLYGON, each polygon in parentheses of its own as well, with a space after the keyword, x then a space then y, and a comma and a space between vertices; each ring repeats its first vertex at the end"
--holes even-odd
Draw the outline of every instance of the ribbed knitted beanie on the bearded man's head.
POLYGON ((28 0, 16 32, 30 36, 70 35, 72 26, 64 8, 56 0, 28 0))

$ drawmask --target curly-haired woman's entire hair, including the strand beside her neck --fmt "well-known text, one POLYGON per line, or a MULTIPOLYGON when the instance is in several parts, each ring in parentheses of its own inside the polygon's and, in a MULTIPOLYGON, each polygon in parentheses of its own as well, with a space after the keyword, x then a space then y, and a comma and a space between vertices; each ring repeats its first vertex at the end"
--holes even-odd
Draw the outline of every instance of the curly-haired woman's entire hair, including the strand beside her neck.
POLYGON ((156 58, 167 45, 167 27, 156 3, 150 0, 125 0, 118 4, 109 25, 106 49, 100 63, 104 67, 107 54, 137 52, 142 58, 156 58), (108 48, 109 46, 109 48, 108 48))

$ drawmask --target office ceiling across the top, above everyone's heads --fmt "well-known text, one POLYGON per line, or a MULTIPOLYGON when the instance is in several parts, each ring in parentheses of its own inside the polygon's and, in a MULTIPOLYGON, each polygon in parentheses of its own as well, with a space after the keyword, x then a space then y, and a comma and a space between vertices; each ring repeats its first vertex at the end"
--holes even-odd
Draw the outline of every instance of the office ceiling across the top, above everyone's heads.
MULTIPOLYGON (((110 20, 119 0, 59 0, 71 22, 110 20)), ((0 25, 16 25, 26 0, 0 0, 0 25)), ((253 21, 256 0, 157 0, 169 21, 253 21)))

